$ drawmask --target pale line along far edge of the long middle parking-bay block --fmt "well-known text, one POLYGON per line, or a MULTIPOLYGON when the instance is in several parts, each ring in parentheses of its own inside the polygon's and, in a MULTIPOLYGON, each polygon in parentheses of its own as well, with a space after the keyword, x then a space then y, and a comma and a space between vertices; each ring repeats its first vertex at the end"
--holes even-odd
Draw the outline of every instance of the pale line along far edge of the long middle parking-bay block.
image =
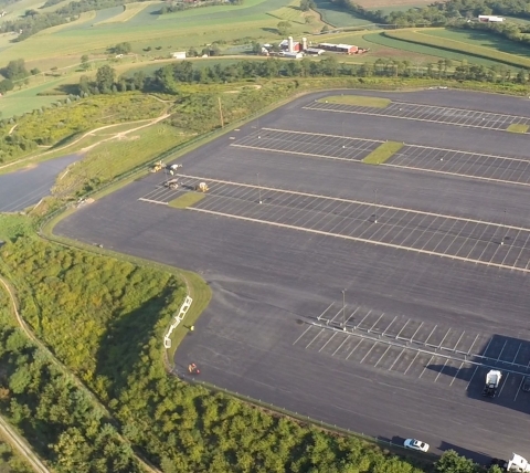
MULTIPOLYGON (((381 166, 388 166, 388 165, 381 165, 381 166)), ((448 219, 448 220, 458 220, 458 221, 462 221, 462 222, 480 223, 483 225, 491 225, 491 227, 497 227, 497 228, 502 228, 502 229, 522 230, 524 232, 530 232, 530 229, 527 229, 524 227, 505 225, 505 224, 501 224, 501 223, 487 222, 487 221, 483 221, 483 220, 446 216, 444 213, 435 213, 435 212, 426 212, 426 211, 423 211, 423 210, 406 209, 404 207, 385 206, 383 203, 375 204, 375 203, 370 203, 370 202, 365 202, 365 201, 362 201, 362 200, 352 200, 352 199, 343 199, 343 198, 340 198, 340 197, 321 196, 319 193, 300 192, 300 191, 297 191, 297 190, 276 189, 274 187, 256 186, 256 185, 234 182, 234 181, 222 180, 222 179, 211 179, 211 178, 204 178, 204 177, 199 177, 199 176, 190 176, 190 175, 180 175, 180 176, 182 178, 189 178, 189 179, 201 179, 201 181, 205 181, 205 182, 210 181, 210 182, 218 182, 218 183, 226 183, 226 185, 247 187, 247 188, 254 188, 254 189, 259 188, 263 191, 271 190, 273 192, 290 193, 293 196, 315 197, 315 198, 319 198, 319 199, 335 200, 337 202, 359 203, 359 204, 367 206, 367 207, 378 207, 379 209, 401 210, 401 211, 404 211, 404 212, 416 213, 418 216, 441 217, 441 218, 448 219)), ((210 193, 210 195, 215 197, 214 193, 210 193)), ((222 197, 222 196, 218 196, 218 197, 222 197)))

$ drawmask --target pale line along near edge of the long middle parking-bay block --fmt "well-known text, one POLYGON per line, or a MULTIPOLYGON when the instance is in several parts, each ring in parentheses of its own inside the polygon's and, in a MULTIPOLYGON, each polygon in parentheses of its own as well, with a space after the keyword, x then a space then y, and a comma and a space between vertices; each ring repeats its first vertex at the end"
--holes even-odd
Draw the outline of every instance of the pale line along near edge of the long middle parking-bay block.
MULTIPOLYGON (((372 241, 372 240, 368 240, 368 239, 361 239, 361 238, 357 238, 357 236, 349 236, 349 235, 342 235, 342 234, 337 234, 337 233, 330 233, 330 232, 325 232, 325 231, 321 231, 321 230, 305 229, 303 227, 295 227, 295 225, 289 225, 289 224, 286 224, 286 223, 268 222, 266 220, 258 220, 258 219, 253 219, 253 218, 250 218, 250 217, 232 216, 230 213, 223 213, 223 212, 218 212, 218 211, 213 211, 213 210, 195 209, 195 208, 192 208, 192 207, 189 207, 187 210, 193 210, 195 212, 210 213, 210 214, 221 216, 221 217, 229 217, 231 219, 244 220, 244 221, 247 221, 247 222, 265 223, 265 224, 269 224, 272 227, 277 227, 277 228, 283 228, 283 229, 301 230, 301 231, 305 231, 305 232, 308 232, 308 233, 316 233, 316 234, 326 235, 326 236, 335 236, 335 238, 340 238, 342 240, 350 240, 350 241, 357 241, 357 242, 361 242, 361 243, 369 243, 369 244, 374 244, 374 245, 379 245, 379 246, 392 248, 392 249, 395 249, 395 250, 413 251, 413 252, 420 253, 420 254, 427 254, 427 255, 431 255, 431 256, 441 256, 441 257, 446 257, 446 259, 449 259, 449 260, 463 261, 463 262, 466 262, 466 263, 481 264, 484 266, 494 266, 494 267, 499 267, 499 269, 505 269, 505 270, 519 271, 521 273, 530 273, 530 270, 527 270, 527 269, 523 269, 523 267, 505 266, 505 265, 499 264, 499 263, 487 263, 485 261, 470 260, 470 259, 464 257, 464 256, 448 255, 448 254, 444 254, 444 253, 437 253, 437 252, 434 252, 434 251, 420 250, 420 249, 410 248, 410 246, 402 246, 402 245, 393 244, 393 243, 384 243, 384 242, 372 241)), ((377 223, 374 223, 374 224, 377 224, 377 223)))

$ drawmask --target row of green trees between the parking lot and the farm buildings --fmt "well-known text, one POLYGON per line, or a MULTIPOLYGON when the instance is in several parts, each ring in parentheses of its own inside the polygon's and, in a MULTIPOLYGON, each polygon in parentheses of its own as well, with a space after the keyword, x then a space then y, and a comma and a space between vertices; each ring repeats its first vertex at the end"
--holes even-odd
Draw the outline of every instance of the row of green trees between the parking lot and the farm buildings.
POLYGON ((125 91, 161 91, 178 94, 182 84, 214 84, 245 81, 263 77, 401 77, 401 78, 444 78, 455 81, 479 81, 490 83, 526 84, 529 73, 513 71, 507 66, 486 67, 481 64, 456 63, 439 60, 436 63, 413 64, 410 61, 378 59, 364 64, 341 63, 336 55, 321 61, 304 57, 300 61, 283 61, 276 57, 264 61, 239 61, 226 65, 197 67, 190 61, 180 61, 165 65, 151 76, 141 72, 132 77, 117 77, 109 65, 99 67, 95 81, 83 76, 80 82, 81 94, 116 93, 125 91))

